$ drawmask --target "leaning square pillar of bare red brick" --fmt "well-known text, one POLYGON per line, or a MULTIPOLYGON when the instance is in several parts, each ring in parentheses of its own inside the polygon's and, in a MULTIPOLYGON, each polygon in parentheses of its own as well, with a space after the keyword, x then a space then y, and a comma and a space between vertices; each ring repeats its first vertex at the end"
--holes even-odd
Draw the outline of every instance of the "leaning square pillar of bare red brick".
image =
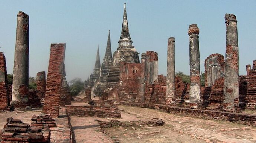
POLYGON ((50 60, 46 81, 45 104, 42 112, 57 118, 59 115, 60 90, 63 77, 65 43, 51 44, 50 60))

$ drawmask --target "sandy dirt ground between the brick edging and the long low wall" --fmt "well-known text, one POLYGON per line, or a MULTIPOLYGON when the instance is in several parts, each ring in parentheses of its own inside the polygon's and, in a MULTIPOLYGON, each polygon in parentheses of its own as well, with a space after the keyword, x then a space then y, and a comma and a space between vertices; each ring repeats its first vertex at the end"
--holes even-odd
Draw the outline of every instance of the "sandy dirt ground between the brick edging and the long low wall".
POLYGON ((177 116, 155 109, 118 106, 121 109, 119 121, 138 121, 161 118, 164 126, 129 126, 104 128, 100 132, 98 122, 110 121, 111 118, 71 117, 76 142, 114 142, 121 143, 253 143, 256 142, 256 127, 232 122, 204 120, 177 116))

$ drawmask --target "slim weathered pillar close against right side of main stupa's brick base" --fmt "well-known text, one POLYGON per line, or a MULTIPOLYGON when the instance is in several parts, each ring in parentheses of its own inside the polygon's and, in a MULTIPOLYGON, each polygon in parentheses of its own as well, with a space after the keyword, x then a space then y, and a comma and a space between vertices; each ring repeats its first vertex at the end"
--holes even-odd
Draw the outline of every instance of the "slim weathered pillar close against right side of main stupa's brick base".
POLYGON ((145 69, 146 69, 146 53, 141 54, 141 76, 140 76, 140 91, 136 102, 145 102, 145 69))

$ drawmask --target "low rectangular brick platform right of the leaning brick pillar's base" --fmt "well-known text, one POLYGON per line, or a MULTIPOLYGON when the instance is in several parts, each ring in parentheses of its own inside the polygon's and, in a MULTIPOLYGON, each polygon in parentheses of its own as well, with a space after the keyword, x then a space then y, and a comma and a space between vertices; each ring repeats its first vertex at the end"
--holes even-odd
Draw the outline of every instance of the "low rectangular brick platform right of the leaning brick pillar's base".
POLYGON ((117 106, 72 106, 66 105, 68 116, 91 116, 100 118, 121 118, 121 112, 117 106))

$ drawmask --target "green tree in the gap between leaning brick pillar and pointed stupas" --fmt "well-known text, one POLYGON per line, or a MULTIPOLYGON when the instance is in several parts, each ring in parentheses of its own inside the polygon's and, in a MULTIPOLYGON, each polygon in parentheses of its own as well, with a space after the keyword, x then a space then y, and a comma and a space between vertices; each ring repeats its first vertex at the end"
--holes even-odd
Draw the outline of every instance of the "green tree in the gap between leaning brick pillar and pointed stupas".
POLYGON ((70 92, 72 96, 76 96, 83 89, 83 81, 81 78, 75 78, 69 81, 70 83, 70 92))

